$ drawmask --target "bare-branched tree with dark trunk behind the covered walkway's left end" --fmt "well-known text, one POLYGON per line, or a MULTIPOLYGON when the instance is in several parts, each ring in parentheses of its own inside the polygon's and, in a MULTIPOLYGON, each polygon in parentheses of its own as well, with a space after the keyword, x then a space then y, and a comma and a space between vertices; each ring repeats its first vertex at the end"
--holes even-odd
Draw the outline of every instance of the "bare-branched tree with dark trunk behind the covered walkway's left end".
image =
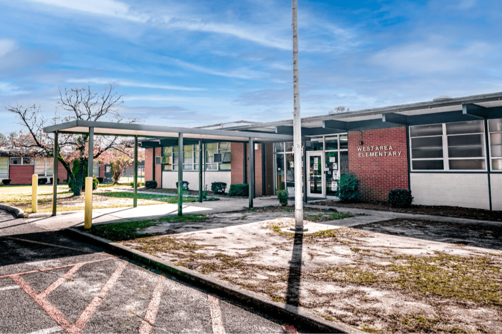
MULTIPOLYGON (((102 93, 92 93, 90 87, 59 89, 59 101, 56 113, 51 124, 68 122, 70 120, 86 121, 111 121, 115 123, 135 123, 138 120, 124 119, 118 107, 123 103, 123 94, 113 92, 111 85, 107 86, 102 93)), ((27 133, 20 131, 11 134, 7 141, 6 148, 20 154, 30 156, 54 157, 54 139, 44 133, 44 127, 50 125, 46 121, 39 105, 24 107, 8 105, 6 110, 14 113, 20 120, 19 124, 25 127, 27 133)), ((57 159, 68 172, 72 182, 73 195, 79 196, 83 183, 83 166, 87 165, 88 158, 88 135, 65 135, 59 136, 59 152, 57 159), (72 173, 70 162, 74 159, 79 161, 79 171, 77 175, 72 173)), ((119 137, 99 136, 94 141, 93 155, 97 159, 103 152, 110 148, 121 145, 123 139, 119 137)), ((54 177, 54 180, 57 176, 54 177)))

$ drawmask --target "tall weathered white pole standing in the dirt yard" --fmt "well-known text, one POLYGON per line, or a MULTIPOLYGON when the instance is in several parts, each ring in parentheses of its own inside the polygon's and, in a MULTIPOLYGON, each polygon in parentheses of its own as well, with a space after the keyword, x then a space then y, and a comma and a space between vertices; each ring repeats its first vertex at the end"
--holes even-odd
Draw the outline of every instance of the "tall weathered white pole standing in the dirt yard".
MULTIPOLYGON (((303 227, 302 196, 302 120, 300 118, 300 64, 298 58, 298 0, 293 5, 293 154, 295 166, 295 227, 294 231, 306 231, 303 227)), ((306 171, 305 171, 306 172, 306 171)), ((307 191, 307 189, 305 189, 307 191)))

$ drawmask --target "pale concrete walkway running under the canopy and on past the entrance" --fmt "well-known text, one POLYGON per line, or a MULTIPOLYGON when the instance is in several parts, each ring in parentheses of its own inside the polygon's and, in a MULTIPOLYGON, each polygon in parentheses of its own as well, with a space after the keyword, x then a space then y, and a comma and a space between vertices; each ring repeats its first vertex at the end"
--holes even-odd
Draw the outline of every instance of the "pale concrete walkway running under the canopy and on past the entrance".
MULTIPOLYGON (((316 205, 322 200, 317 200, 309 202, 304 205, 305 208, 316 208, 316 209, 327 209, 335 208, 341 213, 350 213, 354 215, 351 218, 345 218, 342 220, 336 220, 333 222, 324 222, 325 224, 332 224, 336 226, 356 226, 361 224, 367 224, 377 221, 384 221, 395 218, 412 218, 412 219, 424 219, 439 222, 454 222, 460 224, 497 224, 500 223, 493 221, 484 221, 477 219, 467 219, 467 218, 453 218, 445 216, 433 216, 433 215, 423 215, 423 214, 411 214, 411 213, 400 213, 400 212, 389 212, 380 210, 367 210, 358 208, 348 208, 348 207, 326 207, 324 205, 316 205)), ((260 197, 255 198, 253 201, 254 207, 266 207, 266 206, 279 206, 277 198, 275 196, 260 197)), ((290 201, 290 204, 291 201, 290 201)), ((184 214, 211 214, 218 212, 231 212, 244 210, 248 208, 249 201, 247 198, 222 198, 219 201, 208 201, 208 202, 191 202, 183 205, 184 214)), ((135 220, 148 220, 148 219, 159 219, 168 216, 177 215, 177 204, 158 204, 158 205, 142 205, 136 208, 133 207, 121 207, 121 208, 109 208, 109 209, 95 209, 92 210, 92 223, 114 223, 123 221, 135 221, 135 220)), ((61 215, 55 217, 50 216, 50 213, 45 217, 40 217, 37 214, 36 217, 28 217, 30 223, 35 223, 38 226, 44 227, 49 230, 60 230, 68 227, 75 227, 83 225, 84 223, 84 211, 77 211, 68 214, 62 212, 61 215)))

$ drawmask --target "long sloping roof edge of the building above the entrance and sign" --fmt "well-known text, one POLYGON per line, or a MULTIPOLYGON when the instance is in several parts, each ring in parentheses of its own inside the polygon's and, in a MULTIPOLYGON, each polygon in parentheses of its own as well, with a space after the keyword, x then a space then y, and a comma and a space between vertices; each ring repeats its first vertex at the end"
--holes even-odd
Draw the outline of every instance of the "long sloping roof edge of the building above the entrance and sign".
MULTIPOLYGON (((318 121, 326 121, 326 120, 337 120, 351 117, 361 117, 361 116, 374 116, 385 113, 400 113, 411 110, 421 110, 421 109, 432 109, 432 108, 440 108, 440 107, 449 107, 456 106, 466 103, 482 103, 489 101, 497 101, 502 99, 502 92, 499 93, 490 93, 490 94, 481 94, 481 95, 471 95, 461 98, 452 98, 452 99, 442 99, 438 101, 427 101, 427 102, 417 102, 417 103, 409 103, 403 105, 389 106, 389 107, 380 107, 380 108, 371 108, 371 109, 363 109, 358 111, 349 111, 345 113, 337 113, 337 114, 326 114, 319 116, 311 116, 302 118, 302 123, 310 123, 310 122, 318 122, 318 121)), ((283 120, 276 122, 267 122, 260 123, 254 125, 242 125, 236 127, 229 127, 226 130, 250 130, 256 128, 266 128, 280 125, 293 125, 293 120, 283 120)))

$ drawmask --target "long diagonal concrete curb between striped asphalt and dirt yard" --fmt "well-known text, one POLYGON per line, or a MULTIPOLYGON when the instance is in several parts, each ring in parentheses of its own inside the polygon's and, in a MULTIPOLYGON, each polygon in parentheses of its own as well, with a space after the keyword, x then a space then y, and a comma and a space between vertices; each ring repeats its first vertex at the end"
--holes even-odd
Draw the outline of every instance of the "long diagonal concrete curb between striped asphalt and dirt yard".
POLYGON ((302 327, 307 327, 316 333, 365 334, 365 332, 343 323, 328 322, 322 317, 305 310, 301 306, 296 307, 271 301, 258 293, 247 291, 236 285, 201 274, 197 271, 174 265, 158 257, 145 254, 116 242, 112 242, 89 233, 81 232, 74 228, 67 228, 62 230, 62 232, 74 239, 78 239, 79 241, 91 243, 110 250, 116 254, 127 256, 131 259, 157 267, 158 269, 176 276, 185 282, 195 283, 196 285, 208 289, 217 295, 238 301, 246 306, 257 308, 264 313, 273 314, 274 317, 284 319, 288 323, 300 323, 302 327))

